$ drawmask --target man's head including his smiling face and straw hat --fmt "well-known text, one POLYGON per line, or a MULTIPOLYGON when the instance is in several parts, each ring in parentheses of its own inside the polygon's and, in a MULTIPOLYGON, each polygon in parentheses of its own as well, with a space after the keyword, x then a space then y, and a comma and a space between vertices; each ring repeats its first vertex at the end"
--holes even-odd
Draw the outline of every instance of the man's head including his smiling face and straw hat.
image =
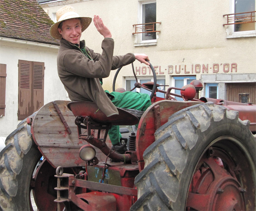
POLYGON ((92 18, 90 17, 80 17, 71 6, 60 8, 56 12, 56 18, 57 23, 51 26, 50 35, 57 40, 64 38, 69 42, 72 41, 71 43, 73 44, 79 43, 81 33, 92 22, 92 18), (73 32, 71 32, 71 30, 73 30, 73 32))

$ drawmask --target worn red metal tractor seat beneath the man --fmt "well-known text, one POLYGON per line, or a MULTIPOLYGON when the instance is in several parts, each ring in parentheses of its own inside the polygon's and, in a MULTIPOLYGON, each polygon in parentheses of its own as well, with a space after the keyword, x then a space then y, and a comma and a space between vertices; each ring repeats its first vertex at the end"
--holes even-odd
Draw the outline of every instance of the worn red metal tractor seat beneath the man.
POLYGON ((118 115, 107 117, 96 105, 96 103, 88 101, 72 101, 67 104, 73 115, 90 116, 97 123, 111 123, 112 125, 135 125, 139 122, 138 117, 129 113, 122 108, 117 108, 118 115))

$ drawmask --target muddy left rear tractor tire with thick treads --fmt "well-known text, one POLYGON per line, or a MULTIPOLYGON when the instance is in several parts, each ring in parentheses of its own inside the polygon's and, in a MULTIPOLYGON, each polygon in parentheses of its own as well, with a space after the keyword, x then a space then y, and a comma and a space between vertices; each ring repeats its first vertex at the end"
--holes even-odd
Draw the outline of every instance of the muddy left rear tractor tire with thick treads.
POLYGON ((33 141, 31 126, 20 122, 0 152, 0 210, 33 210, 32 174, 42 157, 33 141))

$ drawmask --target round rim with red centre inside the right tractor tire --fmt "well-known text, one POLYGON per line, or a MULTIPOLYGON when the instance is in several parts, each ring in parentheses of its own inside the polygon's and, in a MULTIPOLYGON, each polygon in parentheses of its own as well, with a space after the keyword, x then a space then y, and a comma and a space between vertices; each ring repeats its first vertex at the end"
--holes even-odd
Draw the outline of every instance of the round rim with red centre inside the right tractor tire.
POLYGON ((239 139, 221 136, 208 145, 194 169, 186 209, 252 210, 253 187, 255 164, 249 151, 239 139))

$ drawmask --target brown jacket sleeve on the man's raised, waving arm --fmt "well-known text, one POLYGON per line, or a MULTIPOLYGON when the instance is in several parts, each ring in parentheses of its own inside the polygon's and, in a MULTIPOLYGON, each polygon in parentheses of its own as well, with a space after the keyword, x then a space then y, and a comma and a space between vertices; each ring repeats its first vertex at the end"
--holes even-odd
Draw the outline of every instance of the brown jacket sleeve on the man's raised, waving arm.
POLYGON ((105 38, 102 41, 102 54, 93 54, 95 59, 90 60, 79 50, 65 54, 63 65, 65 70, 72 75, 79 75, 88 78, 104 78, 110 74, 114 52, 114 40, 105 38))

